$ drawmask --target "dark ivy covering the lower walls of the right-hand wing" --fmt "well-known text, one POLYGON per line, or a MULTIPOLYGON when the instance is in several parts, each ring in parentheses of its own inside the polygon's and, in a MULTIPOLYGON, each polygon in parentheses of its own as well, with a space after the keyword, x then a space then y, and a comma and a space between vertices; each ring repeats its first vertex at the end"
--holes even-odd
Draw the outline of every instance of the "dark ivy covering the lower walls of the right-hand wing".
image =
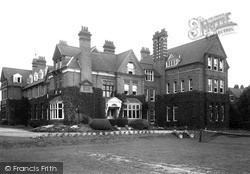
MULTIPOLYGON (((155 103, 156 123, 162 127, 188 126, 191 129, 227 127, 229 101, 228 94, 204 93, 199 91, 183 92, 177 94, 157 95, 155 103), (224 105, 224 122, 210 122, 209 105, 224 105), (169 108, 167 121, 167 107, 169 108), (175 120, 173 120, 173 108, 177 107, 175 120)), ((219 113, 221 117, 221 113, 219 113)))

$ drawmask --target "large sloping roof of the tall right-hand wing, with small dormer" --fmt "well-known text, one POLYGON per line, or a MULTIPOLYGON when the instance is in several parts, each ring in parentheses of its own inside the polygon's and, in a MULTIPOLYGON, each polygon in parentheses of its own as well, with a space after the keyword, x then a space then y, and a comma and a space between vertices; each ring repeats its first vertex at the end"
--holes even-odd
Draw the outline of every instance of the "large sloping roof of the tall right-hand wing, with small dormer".
POLYGON ((178 66, 203 61, 205 53, 222 58, 227 57, 218 35, 212 35, 168 50, 169 55, 180 55, 181 61, 178 66))

